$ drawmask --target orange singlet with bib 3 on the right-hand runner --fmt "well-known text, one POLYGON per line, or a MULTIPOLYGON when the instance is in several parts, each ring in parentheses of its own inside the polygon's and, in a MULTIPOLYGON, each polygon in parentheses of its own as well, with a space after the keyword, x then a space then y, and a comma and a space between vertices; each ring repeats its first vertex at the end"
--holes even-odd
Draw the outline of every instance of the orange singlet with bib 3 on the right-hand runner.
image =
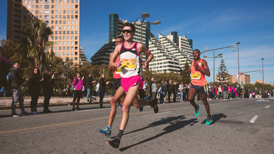
MULTIPOLYGON (((203 59, 200 59, 200 61, 198 62, 198 65, 200 68, 202 68, 203 70, 205 70, 202 66, 202 60, 203 59)), ((194 61, 193 60, 191 62, 191 66, 190 66, 190 69, 191 69, 191 83, 195 86, 205 86, 206 85, 206 78, 205 78, 205 75, 200 72, 200 71, 197 71, 194 67, 194 61)))

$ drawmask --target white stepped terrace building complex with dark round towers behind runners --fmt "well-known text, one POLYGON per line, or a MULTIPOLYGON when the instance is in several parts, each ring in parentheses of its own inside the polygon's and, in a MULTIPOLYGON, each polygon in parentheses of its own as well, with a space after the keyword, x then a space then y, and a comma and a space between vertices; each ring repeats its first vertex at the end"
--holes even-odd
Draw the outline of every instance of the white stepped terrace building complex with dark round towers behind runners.
MULTIPOLYGON (((108 65, 109 55, 115 49, 115 38, 122 35, 122 26, 125 22, 128 21, 118 19, 118 14, 109 15, 109 40, 90 58, 92 65, 108 65)), ((141 23, 139 21, 131 23, 136 27, 133 41, 141 42, 141 23)), ((159 39, 157 39, 150 33, 150 25, 142 25, 142 44, 145 44, 154 55, 154 59, 148 67, 155 72, 174 71, 180 73, 185 61, 193 60, 192 40, 190 43, 185 34, 177 36, 177 32, 171 32, 170 35, 164 36, 159 33, 159 39)), ((146 61, 146 55, 142 54, 142 60, 146 61)))

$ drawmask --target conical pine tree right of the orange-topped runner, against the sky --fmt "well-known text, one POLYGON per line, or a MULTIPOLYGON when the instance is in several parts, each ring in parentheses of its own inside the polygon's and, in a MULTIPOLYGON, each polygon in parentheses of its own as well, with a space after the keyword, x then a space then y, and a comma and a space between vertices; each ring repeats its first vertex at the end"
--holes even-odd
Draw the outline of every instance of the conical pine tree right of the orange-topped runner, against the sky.
POLYGON ((220 85, 230 83, 230 82, 228 82, 228 80, 230 79, 230 75, 228 74, 227 67, 224 63, 223 58, 221 60, 221 64, 220 64, 220 67, 218 70, 218 75, 217 75, 216 79, 219 80, 220 85))

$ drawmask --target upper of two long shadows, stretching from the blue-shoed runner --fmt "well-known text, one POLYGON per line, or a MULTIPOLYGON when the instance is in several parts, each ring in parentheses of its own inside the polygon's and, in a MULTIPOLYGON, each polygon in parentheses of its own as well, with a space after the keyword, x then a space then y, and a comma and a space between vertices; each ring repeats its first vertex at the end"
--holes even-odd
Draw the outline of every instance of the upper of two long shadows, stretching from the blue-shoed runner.
MULTIPOLYGON (((183 120, 183 119, 185 119, 185 118, 186 118, 186 117, 184 117, 184 115, 180 115, 180 116, 177 116, 177 117, 161 118, 161 120, 155 121, 155 122, 149 124, 149 125, 146 126, 146 127, 143 127, 143 128, 140 128, 140 129, 136 129, 136 130, 134 130, 134 131, 130 131, 130 132, 125 133, 125 134, 123 134, 123 135, 129 134, 129 133, 134 133, 134 132, 136 132, 136 131, 142 131, 142 130, 144 130, 144 129, 147 129, 147 128, 150 128, 150 127, 154 127, 154 126, 159 126, 159 125, 161 125, 161 124, 168 124, 168 123, 170 123, 170 122, 172 122, 172 121, 183 120)), ((111 137, 111 138, 115 138, 115 137, 116 137, 116 136, 113 136, 113 137, 111 137)))

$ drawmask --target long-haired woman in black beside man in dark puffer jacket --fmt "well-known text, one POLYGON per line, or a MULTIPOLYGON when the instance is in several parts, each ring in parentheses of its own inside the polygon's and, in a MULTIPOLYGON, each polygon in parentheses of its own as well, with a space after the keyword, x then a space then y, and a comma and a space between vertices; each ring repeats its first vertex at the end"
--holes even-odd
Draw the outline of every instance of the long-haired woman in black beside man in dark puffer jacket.
POLYGON ((37 101, 40 96, 40 90, 42 85, 41 81, 43 81, 44 78, 41 78, 40 70, 37 67, 35 67, 33 68, 29 79, 30 79, 29 94, 31 96, 31 101, 30 101, 31 113, 30 114, 40 114, 40 112, 37 111, 37 101))

